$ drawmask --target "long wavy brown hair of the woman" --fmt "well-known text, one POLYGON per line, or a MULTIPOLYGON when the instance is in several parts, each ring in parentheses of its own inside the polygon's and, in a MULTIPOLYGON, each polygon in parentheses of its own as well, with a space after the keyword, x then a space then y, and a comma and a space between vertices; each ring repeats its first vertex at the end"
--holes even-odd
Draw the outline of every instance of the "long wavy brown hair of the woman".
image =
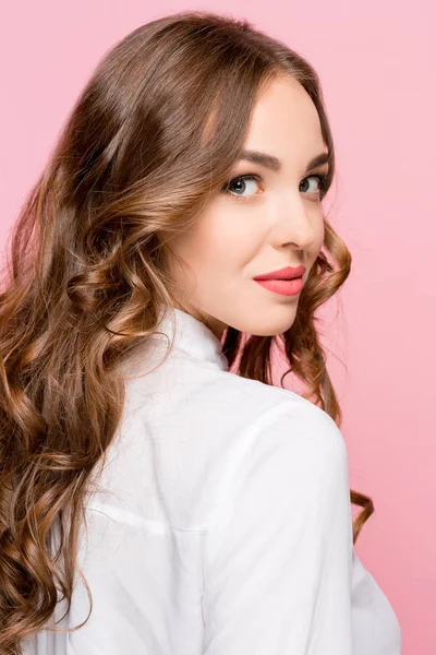
MULTIPOLYGON (((184 11, 142 25, 98 62, 21 209, 0 294, 3 655, 20 654, 21 640, 47 627, 60 596, 70 607, 92 474, 123 410, 118 365, 158 330, 160 305, 174 305, 171 237, 198 219, 230 175, 257 94, 277 74, 298 80, 317 108, 328 189, 334 143, 308 62, 246 20, 184 11)), ((350 264, 325 217, 292 326, 243 345, 230 326, 222 343, 229 366, 240 357, 240 376, 271 384, 271 347, 281 341, 288 372, 337 425, 315 312, 350 264)), ((366 496, 350 499, 364 508, 355 543, 374 509, 366 496)))

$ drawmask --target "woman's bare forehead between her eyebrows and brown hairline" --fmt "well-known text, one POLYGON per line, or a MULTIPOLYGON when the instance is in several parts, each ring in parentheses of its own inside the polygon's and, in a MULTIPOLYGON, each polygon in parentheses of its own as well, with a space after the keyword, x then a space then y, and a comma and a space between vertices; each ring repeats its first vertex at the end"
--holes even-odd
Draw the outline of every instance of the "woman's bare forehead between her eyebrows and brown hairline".
POLYGON ((265 150, 283 160, 325 150, 316 107, 296 80, 281 75, 261 91, 244 147, 265 150))

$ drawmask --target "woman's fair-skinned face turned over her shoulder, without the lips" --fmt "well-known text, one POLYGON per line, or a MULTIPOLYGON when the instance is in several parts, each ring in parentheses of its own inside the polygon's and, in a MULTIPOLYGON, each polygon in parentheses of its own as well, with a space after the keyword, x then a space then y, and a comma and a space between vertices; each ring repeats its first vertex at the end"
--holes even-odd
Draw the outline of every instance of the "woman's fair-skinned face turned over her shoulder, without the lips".
POLYGON ((255 105, 244 151, 276 157, 275 169, 240 159, 194 228, 171 241, 183 260, 171 276, 183 289, 179 309, 203 320, 221 338, 241 332, 276 335, 295 318, 300 294, 281 295, 253 279, 284 266, 305 266, 307 279, 324 240, 319 200, 327 164, 307 168, 326 153, 312 99, 292 78, 275 79, 255 105), (253 175, 252 179, 234 179, 253 175))

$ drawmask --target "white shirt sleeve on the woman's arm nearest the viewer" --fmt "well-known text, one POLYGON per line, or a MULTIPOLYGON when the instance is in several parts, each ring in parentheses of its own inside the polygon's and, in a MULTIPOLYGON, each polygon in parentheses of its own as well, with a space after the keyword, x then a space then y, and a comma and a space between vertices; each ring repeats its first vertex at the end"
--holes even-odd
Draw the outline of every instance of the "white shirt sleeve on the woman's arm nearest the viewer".
POLYGON ((204 655, 351 655, 352 515, 343 437, 284 402, 252 441, 204 551, 204 655))

